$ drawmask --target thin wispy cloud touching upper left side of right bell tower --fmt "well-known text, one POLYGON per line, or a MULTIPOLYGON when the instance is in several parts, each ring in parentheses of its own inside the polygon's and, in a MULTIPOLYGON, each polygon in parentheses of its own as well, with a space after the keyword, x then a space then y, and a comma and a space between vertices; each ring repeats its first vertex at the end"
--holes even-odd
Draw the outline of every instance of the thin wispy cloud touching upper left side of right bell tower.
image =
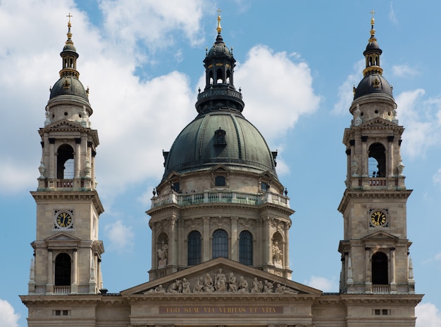
POLYGON ((354 86, 357 86, 363 77, 361 72, 364 69, 364 59, 354 65, 354 71, 347 79, 338 86, 338 101, 335 103, 332 113, 335 115, 347 115, 349 107, 354 100, 354 86))

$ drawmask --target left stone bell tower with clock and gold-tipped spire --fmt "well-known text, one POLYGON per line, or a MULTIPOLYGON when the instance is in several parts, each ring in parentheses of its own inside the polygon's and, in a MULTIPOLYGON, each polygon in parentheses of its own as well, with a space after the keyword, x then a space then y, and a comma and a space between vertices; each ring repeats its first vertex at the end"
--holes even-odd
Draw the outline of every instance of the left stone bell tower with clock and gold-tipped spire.
POLYGON ((104 208, 94 165, 99 139, 89 121, 89 89, 78 79, 70 17, 60 79, 50 90, 39 129, 42 160, 37 191, 31 192, 37 203, 37 236, 31 244, 30 295, 95 294, 102 288, 98 220, 104 208))

